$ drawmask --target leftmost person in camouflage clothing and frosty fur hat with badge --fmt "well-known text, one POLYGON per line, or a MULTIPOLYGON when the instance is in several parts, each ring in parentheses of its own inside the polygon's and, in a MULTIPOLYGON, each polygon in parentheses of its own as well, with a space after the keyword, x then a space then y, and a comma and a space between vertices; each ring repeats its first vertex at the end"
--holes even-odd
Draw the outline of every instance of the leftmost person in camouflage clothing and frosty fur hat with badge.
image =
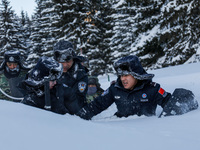
MULTIPOLYGON (((29 69, 22 63, 19 51, 6 51, 0 66, 0 88, 10 96, 23 97, 23 92, 19 90, 17 85, 25 78, 29 69)), ((11 100, 2 93, 0 94, 0 99, 11 100)))

